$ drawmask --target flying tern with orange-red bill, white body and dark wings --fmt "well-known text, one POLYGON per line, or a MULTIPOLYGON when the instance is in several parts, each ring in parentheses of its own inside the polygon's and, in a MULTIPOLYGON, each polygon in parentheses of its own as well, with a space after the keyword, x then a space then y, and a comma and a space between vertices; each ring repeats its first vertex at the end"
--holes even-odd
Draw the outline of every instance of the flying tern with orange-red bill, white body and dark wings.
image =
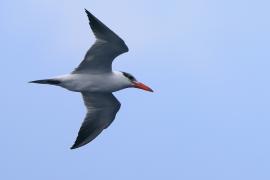
POLYGON ((87 9, 85 12, 95 42, 83 61, 69 74, 29 82, 81 93, 87 113, 70 149, 88 144, 111 125, 121 106, 113 92, 132 87, 153 92, 130 73, 112 70, 113 60, 129 49, 116 33, 87 9))

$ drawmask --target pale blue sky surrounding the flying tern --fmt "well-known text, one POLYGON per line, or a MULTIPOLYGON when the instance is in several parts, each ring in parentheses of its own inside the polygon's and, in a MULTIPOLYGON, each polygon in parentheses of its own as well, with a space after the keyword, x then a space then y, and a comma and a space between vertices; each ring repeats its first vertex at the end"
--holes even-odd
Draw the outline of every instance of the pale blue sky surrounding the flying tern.
POLYGON ((1 0, 0 179, 269 180, 270 1, 1 0), (129 46, 114 123, 70 150, 79 93, 65 74, 94 42, 84 8, 129 46))

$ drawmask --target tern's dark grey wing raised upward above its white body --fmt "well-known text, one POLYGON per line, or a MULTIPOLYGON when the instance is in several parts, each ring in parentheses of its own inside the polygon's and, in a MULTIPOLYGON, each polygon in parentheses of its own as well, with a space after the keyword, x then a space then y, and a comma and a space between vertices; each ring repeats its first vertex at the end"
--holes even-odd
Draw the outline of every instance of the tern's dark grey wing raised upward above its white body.
POLYGON ((128 52, 125 42, 89 11, 85 10, 96 42, 73 73, 104 73, 112 71, 112 61, 128 52))

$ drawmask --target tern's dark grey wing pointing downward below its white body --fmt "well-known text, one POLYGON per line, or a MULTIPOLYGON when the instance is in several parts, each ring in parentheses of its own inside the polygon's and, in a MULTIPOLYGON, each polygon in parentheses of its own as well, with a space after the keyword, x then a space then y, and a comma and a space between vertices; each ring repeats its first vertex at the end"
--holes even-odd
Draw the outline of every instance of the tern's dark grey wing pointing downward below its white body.
POLYGON ((112 93, 82 93, 82 96, 87 114, 71 149, 95 139, 112 123, 121 106, 112 93))

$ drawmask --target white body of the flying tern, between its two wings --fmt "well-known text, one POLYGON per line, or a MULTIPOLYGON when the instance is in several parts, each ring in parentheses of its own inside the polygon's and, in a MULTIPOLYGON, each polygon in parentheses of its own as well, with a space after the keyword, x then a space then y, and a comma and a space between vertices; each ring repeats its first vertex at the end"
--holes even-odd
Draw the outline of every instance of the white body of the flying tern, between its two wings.
POLYGON ((118 73, 69 74, 57 77, 61 87, 76 92, 114 92, 128 87, 118 73))

